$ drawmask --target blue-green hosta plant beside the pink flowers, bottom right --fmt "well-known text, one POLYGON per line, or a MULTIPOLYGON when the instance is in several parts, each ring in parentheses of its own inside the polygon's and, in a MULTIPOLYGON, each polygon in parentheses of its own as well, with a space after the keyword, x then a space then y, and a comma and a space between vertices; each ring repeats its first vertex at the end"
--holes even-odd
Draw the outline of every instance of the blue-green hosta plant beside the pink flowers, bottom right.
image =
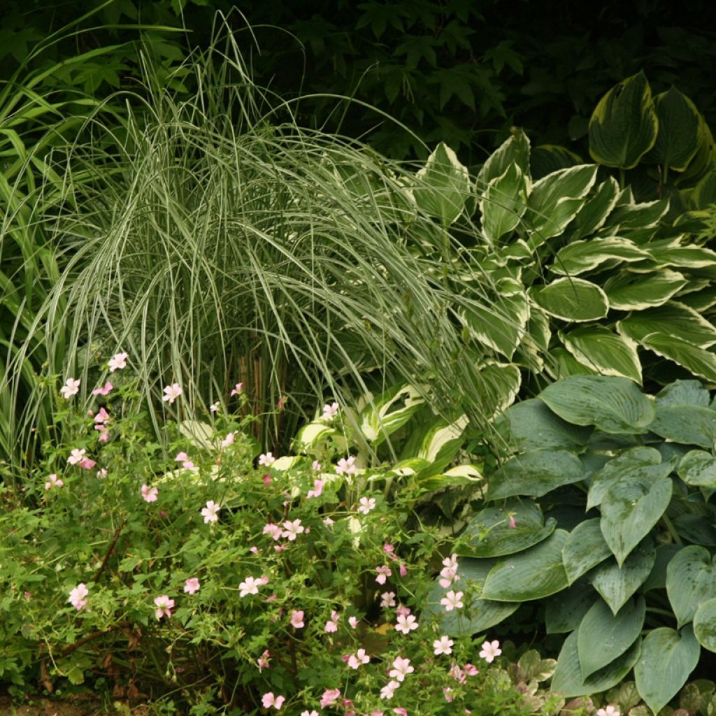
POLYGON ((651 396, 581 375, 499 422, 515 453, 486 476, 449 585, 480 596, 443 629, 483 632, 538 602, 546 632, 566 635, 554 691, 596 694, 633 672, 657 714, 716 652, 716 401, 696 380, 651 396))

